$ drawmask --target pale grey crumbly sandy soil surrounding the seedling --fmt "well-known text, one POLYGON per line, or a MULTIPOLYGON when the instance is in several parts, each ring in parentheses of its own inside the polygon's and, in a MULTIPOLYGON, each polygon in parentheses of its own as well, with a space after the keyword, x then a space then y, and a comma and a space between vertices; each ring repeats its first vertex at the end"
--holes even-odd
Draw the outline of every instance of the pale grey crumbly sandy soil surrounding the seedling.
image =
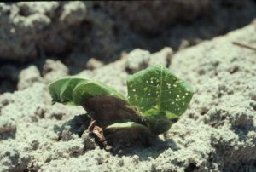
POLYGON ((69 75, 64 63, 77 56, 61 62, 24 54, 21 59, 38 59, 21 68, 4 62, 2 87, 16 89, 0 95, 0 171, 256 171, 256 51, 234 41, 255 48, 255 21, 177 52, 162 46, 155 53, 133 49, 108 64, 90 59, 78 75, 125 95, 126 77, 154 64, 169 67, 195 88, 189 109, 166 139, 160 135, 154 146, 135 144, 118 153, 98 146, 86 130, 90 120, 82 107, 51 105, 47 84, 69 75))

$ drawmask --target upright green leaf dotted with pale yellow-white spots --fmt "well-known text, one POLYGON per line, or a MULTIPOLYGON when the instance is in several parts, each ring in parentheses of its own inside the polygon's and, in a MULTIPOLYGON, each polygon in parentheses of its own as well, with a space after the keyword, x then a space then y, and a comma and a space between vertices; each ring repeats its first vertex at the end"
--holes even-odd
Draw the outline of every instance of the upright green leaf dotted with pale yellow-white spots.
POLYGON ((178 118, 193 96, 189 83, 164 66, 150 66, 127 80, 128 99, 145 118, 178 118))

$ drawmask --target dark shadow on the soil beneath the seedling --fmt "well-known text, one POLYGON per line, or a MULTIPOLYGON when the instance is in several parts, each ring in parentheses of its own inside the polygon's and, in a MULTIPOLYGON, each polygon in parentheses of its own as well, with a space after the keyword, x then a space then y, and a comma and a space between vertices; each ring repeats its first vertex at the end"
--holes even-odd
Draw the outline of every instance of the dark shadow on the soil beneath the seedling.
MULTIPOLYGON (((68 129, 69 132, 75 135, 79 135, 81 137, 84 133, 84 130, 88 129, 90 125, 90 118, 85 114, 75 116, 73 119, 64 123, 61 127, 55 125, 54 131, 60 135, 59 140, 61 140, 61 133, 68 129)), ((102 149, 102 143, 96 138, 95 135, 90 134, 92 140, 95 141, 96 145, 100 146, 102 149)), ((107 140, 108 141, 108 140, 107 140)), ((119 157, 122 156, 134 156, 137 155, 140 160, 145 161, 150 158, 157 158, 160 153, 164 152, 167 149, 172 149, 172 151, 177 151, 178 147, 174 140, 160 140, 159 137, 152 140, 151 146, 143 146, 142 140, 134 140, 131 143, 124 145, 116 144, 113 146, 113 150, 110 152, 113 155, 117 155, 119 157)))

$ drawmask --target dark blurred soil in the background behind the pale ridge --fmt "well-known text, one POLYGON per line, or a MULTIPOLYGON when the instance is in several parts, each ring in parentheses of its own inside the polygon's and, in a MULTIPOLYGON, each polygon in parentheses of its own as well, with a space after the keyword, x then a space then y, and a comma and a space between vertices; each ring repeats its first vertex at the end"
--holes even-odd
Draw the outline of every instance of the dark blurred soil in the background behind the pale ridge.
POLYGON ((132 49, 185 49, 255 15, 253 0, 0 3, 0 93, 17 89, 31 64, 44 76, 47 59, 76 74, 132 49))

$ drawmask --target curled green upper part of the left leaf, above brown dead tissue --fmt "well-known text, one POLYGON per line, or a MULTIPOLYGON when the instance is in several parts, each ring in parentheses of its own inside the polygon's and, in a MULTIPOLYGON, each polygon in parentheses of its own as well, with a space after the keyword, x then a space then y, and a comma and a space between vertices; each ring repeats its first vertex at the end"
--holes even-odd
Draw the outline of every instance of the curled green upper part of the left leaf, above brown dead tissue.
POLYGON ((112 95, 127 101, 115 89, 82 77, 63 77, 53 83, 49 83, 48 89, 53 102, 83 105, 85 100, 89 100, 96 95, 112 95))

